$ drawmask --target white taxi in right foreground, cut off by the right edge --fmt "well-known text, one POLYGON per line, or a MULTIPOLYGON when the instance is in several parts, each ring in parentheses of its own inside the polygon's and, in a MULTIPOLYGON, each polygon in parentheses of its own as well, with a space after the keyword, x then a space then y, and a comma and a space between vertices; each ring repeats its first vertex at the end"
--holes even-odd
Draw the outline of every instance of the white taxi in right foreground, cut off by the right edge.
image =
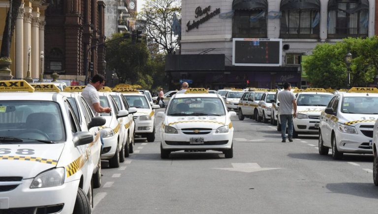
POLYGON ((319 153, 334 159, 343 153, 372 153, 374 123, 378 119, 378 89, 351 88, 336 94, 320 114, 319 153))

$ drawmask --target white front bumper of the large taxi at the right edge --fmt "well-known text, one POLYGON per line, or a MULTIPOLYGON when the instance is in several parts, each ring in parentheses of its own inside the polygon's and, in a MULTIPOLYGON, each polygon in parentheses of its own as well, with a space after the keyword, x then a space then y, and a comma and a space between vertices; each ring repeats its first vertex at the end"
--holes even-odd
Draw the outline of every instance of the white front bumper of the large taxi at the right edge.
POLYGON ((337 150, 341 153, 372 154, 370 141, 373 139, 363 134, 349 134, 336 130, 337 150))

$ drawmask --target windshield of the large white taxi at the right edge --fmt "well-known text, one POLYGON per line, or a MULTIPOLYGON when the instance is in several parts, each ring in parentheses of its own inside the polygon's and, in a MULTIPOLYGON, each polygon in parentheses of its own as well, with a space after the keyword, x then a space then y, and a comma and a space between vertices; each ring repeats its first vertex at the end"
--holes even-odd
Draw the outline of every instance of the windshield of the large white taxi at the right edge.
POLYGON ((346 96, 341 103, 341 112, 347 114, 378 114, 378 97, 346 96))

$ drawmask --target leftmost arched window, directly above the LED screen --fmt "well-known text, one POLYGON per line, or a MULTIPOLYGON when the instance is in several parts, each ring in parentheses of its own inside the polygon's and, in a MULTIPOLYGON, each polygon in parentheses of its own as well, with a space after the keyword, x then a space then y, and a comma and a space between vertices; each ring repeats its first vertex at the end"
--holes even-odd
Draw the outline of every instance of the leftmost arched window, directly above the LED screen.
POLYGON ((232 20, 232 37, 266 38, 266 0, 234 0, 232 2, 234 17, 232 20))

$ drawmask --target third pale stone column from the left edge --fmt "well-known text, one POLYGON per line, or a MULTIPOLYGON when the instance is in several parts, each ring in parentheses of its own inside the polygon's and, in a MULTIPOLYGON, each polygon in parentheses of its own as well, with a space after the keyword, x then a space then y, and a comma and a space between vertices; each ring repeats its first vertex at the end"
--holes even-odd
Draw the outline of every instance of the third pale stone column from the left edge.
POLYGON ((39 78, 39 12, 33 11, 32 19, 32 78, 39 78))

